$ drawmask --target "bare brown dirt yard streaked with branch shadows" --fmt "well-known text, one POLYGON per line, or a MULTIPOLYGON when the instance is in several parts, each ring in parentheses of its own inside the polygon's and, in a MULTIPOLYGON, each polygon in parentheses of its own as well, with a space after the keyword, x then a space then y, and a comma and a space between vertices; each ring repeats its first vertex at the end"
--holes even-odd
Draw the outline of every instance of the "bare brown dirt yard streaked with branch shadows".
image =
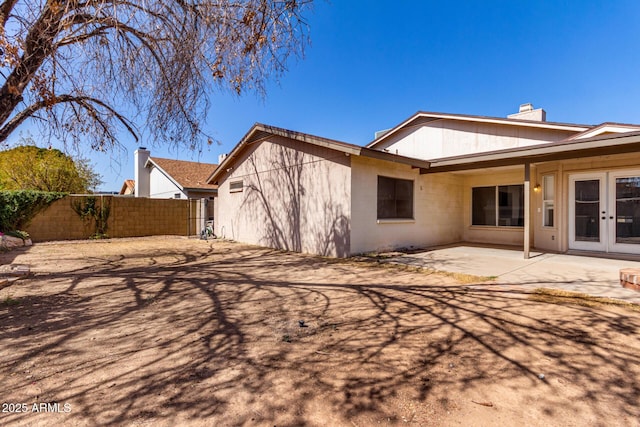
POLYGON ((9 263, 2 425, 640 425, 628 308, 174 237, 9 263))

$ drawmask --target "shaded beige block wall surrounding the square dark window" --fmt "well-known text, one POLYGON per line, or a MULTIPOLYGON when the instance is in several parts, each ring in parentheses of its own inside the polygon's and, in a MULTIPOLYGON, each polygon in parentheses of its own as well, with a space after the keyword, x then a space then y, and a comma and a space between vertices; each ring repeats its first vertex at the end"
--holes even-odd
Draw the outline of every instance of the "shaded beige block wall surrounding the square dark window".
POLYGON ((353 157, 352 254, 425 247, 462 239, 462 182, 453 174, 420 175, 410 166, 353 157), (378 220, 378 176, 414 181, 414 219, 378 220))

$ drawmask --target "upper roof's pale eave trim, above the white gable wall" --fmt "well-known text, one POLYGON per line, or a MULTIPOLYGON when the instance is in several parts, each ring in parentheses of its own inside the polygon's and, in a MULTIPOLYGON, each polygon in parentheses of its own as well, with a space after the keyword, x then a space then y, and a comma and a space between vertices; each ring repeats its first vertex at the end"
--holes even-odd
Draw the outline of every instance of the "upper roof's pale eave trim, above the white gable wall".
POLYGON ((386 140, 391 135, 397 133, 398 131, 412 127, 412 126, 420 126, 422 124, 436 121, 436 120, 457 120, 457 121, 467 121, 467 122, 476 122, 476 123, 492 123, 498 125, 506 125, 506 126, 520 126, 520 127, 530 127, 530 128, 539 128, 539 129, 554 129, 554 130, 564 130, 567 132, 584 132, 588 129, 592 128, 593 125, 579 125, 573 123, 557 123, 557 122, 546 122, 546 121, 538 121, 538 120, 522 120, 522 119, 509 119, 502 117, 488 117, 488 116, 472 116, 466 114, 447 114, 447 113, 433 113, 427 111, 418 111, 413 116, 409 117, 404 122, 400 123, 394 128, 391 128, 387 131, 377 132, 376 139, 367 144, 367 148, 374 148, 379 145, 382 141, 386 140))

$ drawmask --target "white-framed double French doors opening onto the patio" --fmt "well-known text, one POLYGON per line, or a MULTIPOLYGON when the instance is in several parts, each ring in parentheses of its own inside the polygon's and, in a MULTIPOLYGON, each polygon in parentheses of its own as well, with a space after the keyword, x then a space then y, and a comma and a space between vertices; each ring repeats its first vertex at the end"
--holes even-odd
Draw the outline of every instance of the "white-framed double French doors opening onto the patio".
POLYGON ((640 254, 640 170, 569 176, 569 248, 640 254))

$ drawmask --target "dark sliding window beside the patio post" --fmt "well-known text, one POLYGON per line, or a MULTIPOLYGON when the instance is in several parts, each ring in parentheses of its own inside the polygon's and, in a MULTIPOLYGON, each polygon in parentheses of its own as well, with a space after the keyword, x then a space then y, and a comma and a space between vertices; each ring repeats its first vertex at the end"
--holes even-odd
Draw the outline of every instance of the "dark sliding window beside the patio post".
POLYGON ((524 227, 524 185, 471 189, 471 225, 524 227))

